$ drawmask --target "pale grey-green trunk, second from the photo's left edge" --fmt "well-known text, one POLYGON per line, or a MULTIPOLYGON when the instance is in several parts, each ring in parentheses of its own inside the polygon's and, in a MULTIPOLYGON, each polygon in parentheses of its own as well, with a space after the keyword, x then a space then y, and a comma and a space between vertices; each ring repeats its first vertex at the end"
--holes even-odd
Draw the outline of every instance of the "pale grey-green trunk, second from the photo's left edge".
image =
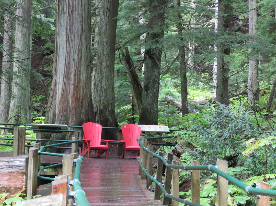
POLYGON ((17 3, 12 95, 9 118, 12 123, 27 123, 30 102, 31 0, 17 3))

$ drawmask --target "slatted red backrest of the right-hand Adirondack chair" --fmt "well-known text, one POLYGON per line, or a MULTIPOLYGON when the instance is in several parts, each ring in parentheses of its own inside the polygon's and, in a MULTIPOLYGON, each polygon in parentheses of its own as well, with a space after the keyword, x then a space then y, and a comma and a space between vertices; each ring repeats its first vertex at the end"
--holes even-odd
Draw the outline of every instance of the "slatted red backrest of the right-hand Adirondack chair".
POLYGON ((141 136, 141 127, 136 124, 124 124, 121 126, 123 133, 123 140, 126 141, 126 146, 139 147, 139 143, 136 138, 141 136))

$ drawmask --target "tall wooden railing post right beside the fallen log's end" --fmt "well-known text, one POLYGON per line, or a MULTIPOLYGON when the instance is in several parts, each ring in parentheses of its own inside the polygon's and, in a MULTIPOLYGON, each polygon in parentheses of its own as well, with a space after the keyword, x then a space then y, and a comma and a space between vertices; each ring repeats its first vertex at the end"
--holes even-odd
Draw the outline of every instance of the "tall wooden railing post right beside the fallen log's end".
POLYGON ((27 197, 36 195, 38 173, 38 148, 29 150, 27 197))

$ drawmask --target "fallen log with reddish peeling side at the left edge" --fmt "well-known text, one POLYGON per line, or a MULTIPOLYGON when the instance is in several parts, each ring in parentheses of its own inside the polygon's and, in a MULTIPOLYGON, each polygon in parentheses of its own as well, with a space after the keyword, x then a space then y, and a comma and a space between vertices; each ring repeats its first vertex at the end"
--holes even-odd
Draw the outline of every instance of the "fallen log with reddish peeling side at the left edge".
POLYGON ((0 194, 10 193, 9 197, 18 193, 26 194, 26 156, 27 155, 0 158, 0 194))

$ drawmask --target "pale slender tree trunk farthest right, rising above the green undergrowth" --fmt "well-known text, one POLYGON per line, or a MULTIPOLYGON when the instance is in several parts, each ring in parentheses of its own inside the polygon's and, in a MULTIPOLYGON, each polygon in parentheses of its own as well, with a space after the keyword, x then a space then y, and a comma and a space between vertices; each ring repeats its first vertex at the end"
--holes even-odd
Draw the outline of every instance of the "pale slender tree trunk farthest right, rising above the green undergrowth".
MULTIPOLYGON (((255 0, 248 1, 249 6, 249 35, 250 42, 254 42, 254 35, 256 35, 257 26, 257 6, 255 0)), ((258 75, 258 61, 256 59, 256 52, 254 52, 253 45, 251 44, 249 48, 249 72, 248 72, 248 93, 247 99, 248 104, 255 107, 255 101, 259 101, 259 75, 258 75)))

